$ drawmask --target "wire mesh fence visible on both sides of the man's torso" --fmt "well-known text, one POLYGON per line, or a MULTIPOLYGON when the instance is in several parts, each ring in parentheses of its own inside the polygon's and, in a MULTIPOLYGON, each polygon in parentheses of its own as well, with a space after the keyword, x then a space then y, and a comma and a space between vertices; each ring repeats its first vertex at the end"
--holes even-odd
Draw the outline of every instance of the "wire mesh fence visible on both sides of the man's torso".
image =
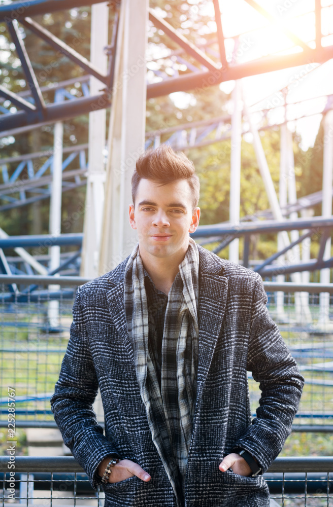
MULTIPOLYGON (((77 285, 84 280, 59 277, 57 285, 54 278, 52 285, 48 279, 44 284, 37 282, 39 277, 18 280, 20 283, 0 284, 0 420, 7 420, 8 388, 13 387, 17 419, 53 421, 49 399, 70 337, 77 285)), ((267 283, 266 288, 268 309, 306 378, 296 422, 332 425, 333 299, 323 293, 328 296, 323 305, 320 289, 314 289, 314 284, 303 288, 303 293, 299 287, 296 293, 292 283, 286 285, 284 293, 274 290, 274 284, 267 283), (311 293, 314 290, 317 292, 311 293)), ((249 386, 254 413, 260 391, 250 374, 249 386)), ((98 410, 97 418, 103 421, 98 410)))

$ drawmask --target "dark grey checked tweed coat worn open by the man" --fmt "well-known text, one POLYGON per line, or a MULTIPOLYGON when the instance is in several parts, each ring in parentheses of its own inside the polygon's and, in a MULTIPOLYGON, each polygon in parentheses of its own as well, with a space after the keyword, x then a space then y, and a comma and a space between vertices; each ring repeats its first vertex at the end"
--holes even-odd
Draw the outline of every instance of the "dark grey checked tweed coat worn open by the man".
MULTIPOLYGON (((198 248, 197 399, 185 507, 268 507, 262 475, 222 473, 218 465, 240 447, 267 470, 290 433, 304 379, 265 307, 260 276, 198 248), (247 370, 261 389, 252 423, 247 370)), ((151 475, 148 483, 131 477, 104 485, 106 507, 176 507, 137 382, 123 303, 126 262, 79 287, 51 407, 94 488, 98 464, 114 453, 151 475), (92 409, 98 387, 105 435, 92 409)))

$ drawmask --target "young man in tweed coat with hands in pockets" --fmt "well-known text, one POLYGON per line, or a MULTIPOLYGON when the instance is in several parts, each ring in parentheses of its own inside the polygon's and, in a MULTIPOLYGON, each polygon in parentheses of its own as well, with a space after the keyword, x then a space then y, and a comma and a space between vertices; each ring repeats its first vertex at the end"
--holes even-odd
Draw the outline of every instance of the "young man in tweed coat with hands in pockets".
POLYGON ((51 398, 65 444, 106 507, 268 507, 262 473, 291 430, 303 387, 261 278, 189 237, 193 164, 142 155, 130 226, 139 243, 79 287, 51 398), (260 382, 251 422, 247 371, 260 382), (100 389, 105 436, 92 403, 100 389))

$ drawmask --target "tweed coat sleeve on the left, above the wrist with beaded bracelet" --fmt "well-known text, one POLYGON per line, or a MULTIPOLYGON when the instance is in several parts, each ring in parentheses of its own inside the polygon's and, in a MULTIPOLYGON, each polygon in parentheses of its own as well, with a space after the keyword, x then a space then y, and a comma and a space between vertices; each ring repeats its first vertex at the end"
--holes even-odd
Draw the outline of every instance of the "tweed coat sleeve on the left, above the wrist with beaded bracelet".
POLYGON ((50 403, 65 445, 84 468, 94 489, 101 484, 96 476, 98 464, 109 455, 117 455, 92 408, 97 390, 79 288, 73 306, 70 341, 50 403))

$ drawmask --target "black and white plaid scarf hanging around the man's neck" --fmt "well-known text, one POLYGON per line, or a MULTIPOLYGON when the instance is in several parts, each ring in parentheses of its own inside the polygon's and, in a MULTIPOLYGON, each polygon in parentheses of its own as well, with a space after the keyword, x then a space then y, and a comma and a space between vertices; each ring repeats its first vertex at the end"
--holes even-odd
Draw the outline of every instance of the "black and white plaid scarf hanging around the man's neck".
POLYGON ((198 249, 189 238, 185 258, 168 295, 160 379, 155 358, 149 352, 149 311, 139 245, 128 259, 124 278, 125 314, 140 392, 153 442, 179 505, 184 501, 196 399, 198 265, 198 249))

